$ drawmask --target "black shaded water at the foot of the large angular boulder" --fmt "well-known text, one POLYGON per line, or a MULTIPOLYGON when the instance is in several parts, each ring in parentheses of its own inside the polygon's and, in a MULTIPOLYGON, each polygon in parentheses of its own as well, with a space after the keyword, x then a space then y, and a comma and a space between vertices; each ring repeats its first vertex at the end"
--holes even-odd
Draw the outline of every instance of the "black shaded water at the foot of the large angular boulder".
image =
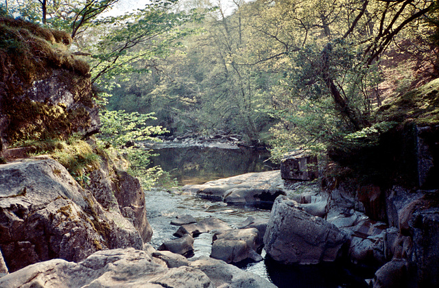
POLYGON ((353 274, 352 267, 342 263, 317 265, 280 265, 265 257, 265 267, 270 280, 278 288, 366 288, 364 278, 353 274))

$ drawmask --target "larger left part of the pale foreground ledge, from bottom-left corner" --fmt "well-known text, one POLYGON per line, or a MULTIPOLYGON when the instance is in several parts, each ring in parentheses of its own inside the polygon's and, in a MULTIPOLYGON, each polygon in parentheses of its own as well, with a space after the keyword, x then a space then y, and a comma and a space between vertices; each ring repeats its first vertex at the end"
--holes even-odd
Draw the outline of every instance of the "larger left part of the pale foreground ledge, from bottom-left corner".
POLYGON ((166 268, 141 250, 99 251, 80 263, 53 259, 0 278, 0 287, 211 287, 200 269, 166 268))

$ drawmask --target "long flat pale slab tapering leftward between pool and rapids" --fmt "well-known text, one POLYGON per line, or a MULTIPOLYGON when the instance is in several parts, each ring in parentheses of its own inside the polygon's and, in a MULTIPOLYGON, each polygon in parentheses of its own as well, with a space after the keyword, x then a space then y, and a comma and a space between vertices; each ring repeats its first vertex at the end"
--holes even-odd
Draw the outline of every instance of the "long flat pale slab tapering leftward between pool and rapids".
POLYGON ((239 176, 213 180, 205 184, 185 185, 183 192, 212 201, 232 205, 271 208, 278 195, 286 195, 287 188, 281 171, 246 173, 239 176))

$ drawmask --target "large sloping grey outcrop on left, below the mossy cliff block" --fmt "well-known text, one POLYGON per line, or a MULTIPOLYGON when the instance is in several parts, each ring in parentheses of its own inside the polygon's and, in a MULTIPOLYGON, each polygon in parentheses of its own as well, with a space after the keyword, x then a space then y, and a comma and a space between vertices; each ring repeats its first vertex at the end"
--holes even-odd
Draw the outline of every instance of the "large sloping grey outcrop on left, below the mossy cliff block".
POLYGON ((82 261, 97 250, 143 247, 119 206, 104 208, 49 158, 0 165, 0 207, 0 248, 10 272, 54 258, 82 261))

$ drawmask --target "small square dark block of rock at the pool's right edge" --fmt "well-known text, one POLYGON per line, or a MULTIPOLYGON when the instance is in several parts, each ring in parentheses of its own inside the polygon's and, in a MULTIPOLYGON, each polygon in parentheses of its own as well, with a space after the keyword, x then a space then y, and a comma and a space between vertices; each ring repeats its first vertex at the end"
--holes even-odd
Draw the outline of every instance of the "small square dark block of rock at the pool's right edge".
POLYGON ((281 176, 285 180, 314 180, 318 178, 316 156, 304 152, 290 154, 281 160, 281 176))

